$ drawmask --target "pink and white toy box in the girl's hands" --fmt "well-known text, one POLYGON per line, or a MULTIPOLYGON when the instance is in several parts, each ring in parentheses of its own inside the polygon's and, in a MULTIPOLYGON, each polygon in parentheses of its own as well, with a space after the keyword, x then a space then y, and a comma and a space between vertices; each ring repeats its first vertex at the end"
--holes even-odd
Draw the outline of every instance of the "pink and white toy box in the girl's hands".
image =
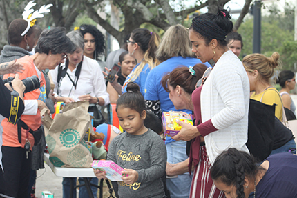
MULTIPOLYGON (((100 172, 106 172, 106 177, 111 181, 123 181, 122 171, 124 170, 115 162, 110 160, 94 160, 92 163, 92 168, 99 169, 100 172)), ((128 175, 125 175, 128 176, 128 175)))

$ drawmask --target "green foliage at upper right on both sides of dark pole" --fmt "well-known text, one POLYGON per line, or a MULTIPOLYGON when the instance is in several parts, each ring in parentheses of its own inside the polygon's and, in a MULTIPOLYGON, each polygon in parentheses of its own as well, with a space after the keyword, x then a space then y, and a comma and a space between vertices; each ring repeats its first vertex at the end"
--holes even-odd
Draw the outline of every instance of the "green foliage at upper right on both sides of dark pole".
MULTIPOLYGON (((268 16, 262 16, 261 21, 261 53, 269 57, 273 52, 280 53, 282 70, 297 71, 297 42, 294 41, 294 12, 289 4, 285 12, 280 12, 275 5, 269 9, 268 16)), ((242 35, 244 46, 241 56, 253 53, 253 18, 248 19, 238 29, 242 35)))

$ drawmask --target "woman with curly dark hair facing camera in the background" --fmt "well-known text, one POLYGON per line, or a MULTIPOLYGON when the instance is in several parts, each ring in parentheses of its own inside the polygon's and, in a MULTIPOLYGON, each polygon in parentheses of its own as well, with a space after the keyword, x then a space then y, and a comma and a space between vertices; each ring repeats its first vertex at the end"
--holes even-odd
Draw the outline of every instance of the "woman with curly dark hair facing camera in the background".
POLYGON ((105 37, 95 26, 83 24, 79 27, 84 37, 84 56, 95 59, 104 71, 106 63, 99 59, 105 52, 105 37))

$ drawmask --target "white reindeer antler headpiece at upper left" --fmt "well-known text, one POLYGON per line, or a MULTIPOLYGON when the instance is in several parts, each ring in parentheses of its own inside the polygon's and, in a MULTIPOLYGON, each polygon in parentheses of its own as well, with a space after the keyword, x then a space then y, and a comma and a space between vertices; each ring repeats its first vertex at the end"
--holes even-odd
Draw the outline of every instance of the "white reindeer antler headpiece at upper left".
POLYGON ((48 13, 50 12, 50 8, 52 6, 52 4, 48 4, 48 5, 44 5, 44 6, 41 6, 39 8, 39 10, 36 10, 34 11, 33 9, 31 9, 33 6, 35 6, 36 3, 33 1, 30 1, 27 6, 25 7, 25 10, 23 11, 23 19, 26 20, 28 22, 28 26, 26 28, 25 31, 23 31, 23 33, 21 33, 21 36, 23 37, 23 35, 25 35, 30 27, 34 26, 35 25, 35 21, 37 18, 42 18, 44 17, 44 13, 48 13))

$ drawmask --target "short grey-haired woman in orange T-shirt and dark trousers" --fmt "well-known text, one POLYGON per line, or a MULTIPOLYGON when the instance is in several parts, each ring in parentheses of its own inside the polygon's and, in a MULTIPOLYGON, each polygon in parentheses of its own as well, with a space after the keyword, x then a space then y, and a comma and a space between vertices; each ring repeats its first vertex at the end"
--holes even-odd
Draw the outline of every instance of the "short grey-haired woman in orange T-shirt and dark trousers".
MULTIPOLYGON (((28 193, 32 146, 41 136, 40 111, 46 108, 46 81, 41 70, 55 69, 59 63, 64 63, 66 53, 73 52, 75 46, 66 37, 65 28, 50 28, 41 33, 35 55, 17 59, 24 66, 20 79, 36 75, 40 87, 25 94, 25 100, 31 100, 28 115, 22 115, 17 125, 4 119, 3 125, 3 169, 6 179, 5 195, 23 197, 28 193), (34 134, 34 136, 33 136, 34 134)), ((4 75, 4 79, 10 77, 4 75)), ((36 86, 36 85, 35 85, 36 86)), ((36 87, 35 87, 36 88, 36 87)))

